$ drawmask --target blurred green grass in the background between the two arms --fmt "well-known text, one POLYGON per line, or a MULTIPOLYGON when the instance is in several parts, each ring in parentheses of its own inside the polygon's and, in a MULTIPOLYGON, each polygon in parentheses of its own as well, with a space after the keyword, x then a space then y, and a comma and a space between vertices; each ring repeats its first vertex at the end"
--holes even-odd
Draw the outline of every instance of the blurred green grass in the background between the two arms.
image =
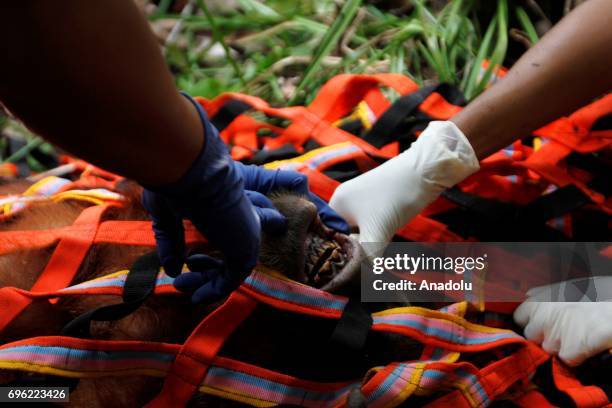
MULTIPOLYGON (((451 1, 441 10, 413 0, 404 15, 362 0, 240 0, 238 8, 214 17, 197 0, 187 16, 158 12, 151 19, 182 20, 184 41, 167 43, 166 55, 178 86, 196 95, 240 91, 276 105, 299 104, 339 73, 397 72, 419 84, 452 83, 472 99, 508 48, 509 4, 495 2, 484 25, 474 0, 451 1), (484 73, 483 60, 490 61, 484 73)), ((513 8, 534 43, 533 23, 524 9, 513 8)))

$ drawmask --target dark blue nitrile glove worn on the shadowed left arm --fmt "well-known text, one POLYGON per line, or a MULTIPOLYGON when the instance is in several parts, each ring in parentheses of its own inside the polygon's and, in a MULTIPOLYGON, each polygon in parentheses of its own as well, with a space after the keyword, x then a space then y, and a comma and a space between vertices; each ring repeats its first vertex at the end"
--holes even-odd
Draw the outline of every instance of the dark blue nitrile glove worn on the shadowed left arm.
POLYGON ((223 253, 224 260, 207 268, 205 280, 192 294, 193 302, 213 302, 236 289, 255 266, 267 220, 278 227, 278 219, 282 223, 284 218, 278 212, 274 217, 275 210, 259 209, 266 215, 260 224, 217 130, 199 104, 190 101, 204 127, 202 151, 180 180, 145 189, 143 204, 153 219, 157 251, 168 275, 178 276, 185 260, 185 218, 223 253))

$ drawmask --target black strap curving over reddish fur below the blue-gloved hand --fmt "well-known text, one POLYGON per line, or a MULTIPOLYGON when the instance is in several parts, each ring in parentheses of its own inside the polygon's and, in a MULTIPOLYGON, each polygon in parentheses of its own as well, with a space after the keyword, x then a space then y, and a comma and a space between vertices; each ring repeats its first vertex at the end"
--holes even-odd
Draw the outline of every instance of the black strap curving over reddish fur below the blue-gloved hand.
POLYGON ((155 252, 138 258, 123 287, 123 303, 102 306, 74 318, 62 330, 65 336, 88 338, 92 321, 114 321, 122 319, 138 309, 155 290, 159 272, 159 258, 155 252))

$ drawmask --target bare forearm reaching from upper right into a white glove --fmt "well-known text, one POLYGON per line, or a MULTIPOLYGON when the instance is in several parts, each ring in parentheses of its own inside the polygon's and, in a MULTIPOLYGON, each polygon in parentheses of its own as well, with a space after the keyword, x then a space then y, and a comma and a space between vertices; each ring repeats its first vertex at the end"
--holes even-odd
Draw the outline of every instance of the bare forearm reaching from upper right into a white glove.
POLYGON ((612 89, 612 1, 590 0, 451 120, 483 159, 612 89))

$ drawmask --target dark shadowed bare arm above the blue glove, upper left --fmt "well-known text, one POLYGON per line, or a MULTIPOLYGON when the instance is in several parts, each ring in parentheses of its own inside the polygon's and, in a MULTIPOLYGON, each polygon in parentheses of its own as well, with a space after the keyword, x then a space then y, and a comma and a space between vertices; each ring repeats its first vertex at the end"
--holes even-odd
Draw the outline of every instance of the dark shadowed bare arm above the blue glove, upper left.
POLYGON ((145 184, 177 180, 202 147, 134 2, 0 2, 0 100, 33 131, 145 184))

